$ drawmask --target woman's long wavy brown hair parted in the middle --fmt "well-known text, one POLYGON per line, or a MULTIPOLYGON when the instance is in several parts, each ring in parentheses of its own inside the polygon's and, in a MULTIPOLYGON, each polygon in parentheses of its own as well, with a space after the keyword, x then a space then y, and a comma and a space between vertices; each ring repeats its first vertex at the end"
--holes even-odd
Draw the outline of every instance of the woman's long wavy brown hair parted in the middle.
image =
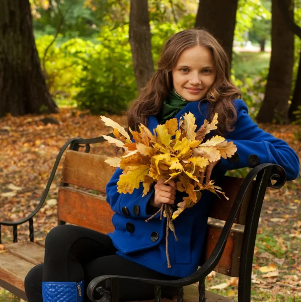
POLYGON ((180 54, 196 45, 211 51, 216 71, 215 80, 204 97, 211 104, 208 117, 212 120, 214 113, 218 113, 216 134, 224 135, 226 131, 233 131, 233 124, 237 119, 233 100, 240 97, 240 91, 231 81, 227 53, 204 29, 183 30, 166 41, 157 64, 157 72, 140 90, 137 99, 131 103, 127 111, 127 123, 132 130, 137 131, 140 123, 147 124, 149 115, 157 115, 161 111, 163 101, 168 98, 173 88, 172 70, 180 54))

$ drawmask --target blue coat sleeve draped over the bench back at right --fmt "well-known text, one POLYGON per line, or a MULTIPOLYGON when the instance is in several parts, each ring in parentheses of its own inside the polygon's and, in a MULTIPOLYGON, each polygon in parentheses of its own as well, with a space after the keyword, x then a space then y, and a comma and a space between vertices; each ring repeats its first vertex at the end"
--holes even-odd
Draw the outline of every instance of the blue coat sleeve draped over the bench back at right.
POLYGON ((300 172, 300 162, 294 150, 282 139, 260 129, 252 121, 248 107, 242 100, 235 100, 235 107, 235 130, 227 135, 226 140, 234 142, 238 156, 236 160, 221 159, 219 169, 227 171, 252 167, 250 159, 254 159, 255 155, 258 164, 277 164, 285 170, 287 180, 296 179, 300 172))

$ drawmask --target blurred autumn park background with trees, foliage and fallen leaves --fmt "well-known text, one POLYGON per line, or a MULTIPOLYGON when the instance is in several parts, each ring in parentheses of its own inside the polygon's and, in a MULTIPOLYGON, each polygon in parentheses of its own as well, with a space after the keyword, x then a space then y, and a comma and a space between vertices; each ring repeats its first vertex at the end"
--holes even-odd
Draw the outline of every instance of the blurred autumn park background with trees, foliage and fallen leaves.
MULTIPOLYGON (((227 51, 252 119, 301 157, 301 0, 1 0, 1 221, 35 209, 68 139, 112 131, 100 114, 125 125, 122 113, 156 70, 164 41, 194 26, 227 51)), ((113 148, 96 144, 91 153, 111 156, 113 148)), ((34 218, 36 240, 57 225, 61 163, 34 218)), ((252 301, 301 302, 300 213, 300 177, 267 190, 252 301)), ((1 234, 12 242, 12 228, 1 234)), ((28 240, 27 225, 18 238, 28 240)), ((206 284, 237 299, 237 278, 212 272, 206 284)), ((20 299, 0 288, 0 301, 20 299)))

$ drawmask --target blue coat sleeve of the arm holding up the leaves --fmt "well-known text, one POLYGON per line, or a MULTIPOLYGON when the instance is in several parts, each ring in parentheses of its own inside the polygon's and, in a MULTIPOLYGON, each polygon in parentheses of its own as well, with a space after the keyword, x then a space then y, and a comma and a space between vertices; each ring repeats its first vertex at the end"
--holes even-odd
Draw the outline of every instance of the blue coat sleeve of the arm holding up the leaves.
POLYGON ((122 216, 126 216, 125 208, 127 208, 129 211, 128 217, 144 219, 149 218, 151 215, 146 213, 146 206, 150 198, 155 193, 155 184, 150 186, 149 192, 144 197, 142 197, 143 186, 141 183, 139 188, 134 189, 132 194, 118 193, 117 182, 121 174, 122 170, 117 168, 111 180, 106 185, 107 202, 110 204, 111 209, 122 216))

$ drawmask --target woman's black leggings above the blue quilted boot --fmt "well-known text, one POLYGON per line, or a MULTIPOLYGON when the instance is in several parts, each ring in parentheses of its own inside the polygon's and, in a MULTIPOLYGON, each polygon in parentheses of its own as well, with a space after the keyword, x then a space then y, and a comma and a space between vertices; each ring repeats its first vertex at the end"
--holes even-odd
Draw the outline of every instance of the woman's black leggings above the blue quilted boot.
MULTIPOLYGON (((42 281, 80 282, 87 286, 95 277, 123 275, 171 280, 161 274, 116 255, 109 236, 76 225, 59 225, 52 229, 45 241, 45 260, 33 267, 25 278, 28 302, 42 302, 42 281)), ((119 284, 121 300, 154 298, 154 287, 139 281, 123 280, 119 284)), ((162 296, 169 296, 174 288, 165 288, 162 296)))

